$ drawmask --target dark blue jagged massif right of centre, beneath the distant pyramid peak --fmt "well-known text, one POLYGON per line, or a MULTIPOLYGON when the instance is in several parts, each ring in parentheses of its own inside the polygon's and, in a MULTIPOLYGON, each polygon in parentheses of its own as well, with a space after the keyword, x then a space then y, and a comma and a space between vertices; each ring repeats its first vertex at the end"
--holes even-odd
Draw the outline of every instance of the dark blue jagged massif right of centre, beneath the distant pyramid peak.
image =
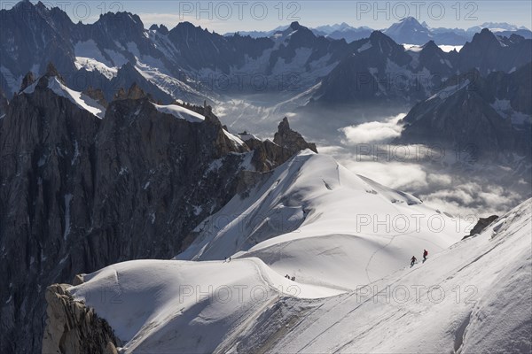
POLYGON ((532 60, 531 40, 497 37, 488 29, 459 52, 444 52, 433 41, 405 50, 378 31, 350 45, 354 54, 325 76, 313 96, 315 104, 415 104, 432 96, 455 73, 509 73, 532 60))

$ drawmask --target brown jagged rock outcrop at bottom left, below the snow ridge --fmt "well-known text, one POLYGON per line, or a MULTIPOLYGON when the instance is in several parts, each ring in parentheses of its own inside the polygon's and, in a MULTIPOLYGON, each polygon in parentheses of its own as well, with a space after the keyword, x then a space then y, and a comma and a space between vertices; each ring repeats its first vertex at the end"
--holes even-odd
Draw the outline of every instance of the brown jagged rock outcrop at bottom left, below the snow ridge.
POLYGON ((46 289, 46 327, 43 354, 115 354, 120 341, 105 319, 75 301, 70 285, 55 284, 46 289))

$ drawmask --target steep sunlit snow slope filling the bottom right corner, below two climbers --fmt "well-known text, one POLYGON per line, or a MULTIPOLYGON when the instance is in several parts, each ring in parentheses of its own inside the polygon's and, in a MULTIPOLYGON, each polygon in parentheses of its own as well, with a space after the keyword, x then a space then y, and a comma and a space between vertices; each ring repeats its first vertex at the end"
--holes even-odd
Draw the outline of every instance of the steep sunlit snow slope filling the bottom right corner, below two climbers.
POLYGON ((312 304, 262 352, 529 353, 531 216, 528 200, 423 265, 312 304))

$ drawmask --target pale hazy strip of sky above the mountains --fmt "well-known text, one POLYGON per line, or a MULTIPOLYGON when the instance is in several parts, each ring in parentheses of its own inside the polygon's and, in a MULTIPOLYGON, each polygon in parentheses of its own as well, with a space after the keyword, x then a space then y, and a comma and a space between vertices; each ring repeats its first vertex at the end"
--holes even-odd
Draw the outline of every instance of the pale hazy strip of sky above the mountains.
MULTIPOLYGON (((14 2, 1 1, 3 8, 14 2)), ((137 13, 150 27, 153 23, 175 27, 188 20, 219 33, 269 30, 299 20, 307 27, 347 22, 374 29, 389 27, 413 16, 430 27, 468 28, 484 22, 508 22, 532 27, 532 2, 517 1, 43 1, 63 6, 74 21, 93 22, 101 12, 137 13)))

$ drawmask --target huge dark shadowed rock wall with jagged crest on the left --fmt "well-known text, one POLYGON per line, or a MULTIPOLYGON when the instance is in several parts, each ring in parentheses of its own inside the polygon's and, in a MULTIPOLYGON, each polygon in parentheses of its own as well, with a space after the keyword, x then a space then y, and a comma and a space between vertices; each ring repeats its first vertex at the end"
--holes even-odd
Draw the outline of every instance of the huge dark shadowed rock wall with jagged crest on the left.
MULTIPOLYGON (((176 119, 137 87, 98 119, 48 89, 56 75, 50 67, 0 119, 0 352, 41 350, 48 285, 129 259, 174 257, 260 173, 316 149, 287 122, 281 145, 237 143, 214 114, 176 119)), ((27 87, 34 83, 27 75, 27 87)))

